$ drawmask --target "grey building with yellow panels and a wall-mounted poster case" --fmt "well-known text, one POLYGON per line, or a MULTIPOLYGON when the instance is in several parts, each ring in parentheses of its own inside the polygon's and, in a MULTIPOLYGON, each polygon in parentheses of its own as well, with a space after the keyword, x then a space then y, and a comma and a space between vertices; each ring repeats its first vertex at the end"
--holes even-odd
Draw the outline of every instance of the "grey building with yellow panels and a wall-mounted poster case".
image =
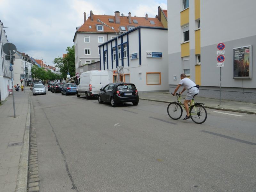
POLYGON ((255 103, 253 5, 253 0, 246 5, 239 0, 168 0, 170 92, 185 73, 201 85, 202 97, 219 99, 221 86, 221 99, 255 103))

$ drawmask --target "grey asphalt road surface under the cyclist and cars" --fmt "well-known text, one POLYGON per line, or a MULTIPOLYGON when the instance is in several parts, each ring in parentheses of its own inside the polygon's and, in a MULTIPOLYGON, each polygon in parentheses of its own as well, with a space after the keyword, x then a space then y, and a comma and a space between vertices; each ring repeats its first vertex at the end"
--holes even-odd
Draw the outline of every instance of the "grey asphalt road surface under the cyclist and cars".
POLYGON ((256 191, 255 115, 207 109, 195 124, 166 103, 30 96, 41 192, 256 191))

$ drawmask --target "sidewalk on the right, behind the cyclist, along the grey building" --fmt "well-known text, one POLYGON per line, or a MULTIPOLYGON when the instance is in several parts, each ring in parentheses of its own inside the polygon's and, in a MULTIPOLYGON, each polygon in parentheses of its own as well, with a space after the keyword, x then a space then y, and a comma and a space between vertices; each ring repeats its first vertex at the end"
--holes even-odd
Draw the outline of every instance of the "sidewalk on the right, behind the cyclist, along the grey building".
MULTIPOLYGON (((158 102, 170 103, 176 101, 176 96, 172 96, 169 92, 151 92, 151 93, 139 93, 141 100, 151 100, 158 102)), ((182 97, 185 98, 185 94, 182 97)), ((183 102, 184 99, 182 99, 183 102)), ((256 103, 246 103, 231 100, 210 99, 204 97, 195 97, 195 101, 198 103, 204 103, 205 108, 211 108, 216 110, 233 111, 240 113, 256 114, 256 103), (221 105, 220 105, 221 104, 221 105)))

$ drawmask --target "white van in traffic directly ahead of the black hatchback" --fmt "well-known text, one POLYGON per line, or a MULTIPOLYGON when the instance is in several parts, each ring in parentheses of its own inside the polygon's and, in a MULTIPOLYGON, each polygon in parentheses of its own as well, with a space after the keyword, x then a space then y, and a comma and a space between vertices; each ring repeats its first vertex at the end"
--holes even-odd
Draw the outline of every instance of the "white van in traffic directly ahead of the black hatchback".
POLYGON ((81 73, 78 82, 76 83, 76 96, 98 97, 100 89, 110 83, 108 71, 94 70, 81 73))

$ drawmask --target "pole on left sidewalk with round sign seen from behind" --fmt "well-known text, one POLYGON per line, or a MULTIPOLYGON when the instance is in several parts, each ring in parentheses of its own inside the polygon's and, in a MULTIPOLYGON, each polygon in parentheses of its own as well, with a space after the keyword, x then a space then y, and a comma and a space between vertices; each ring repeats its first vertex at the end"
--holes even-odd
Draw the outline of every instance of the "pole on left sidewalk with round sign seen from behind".
MULTIPOLYGON (((15 100, 14 100, 14 90, 13 90, 13 74, 12 74, 12 62, 13 58, 12 55, 16 53, 16 46, 12 43, 6 43, 3 45, 3 51, 6 55, 9 55, 9 60, 10 60, 10 71, 11 71, 11 78, 12 78, 12 101, 13 101, 13 112, 14 112, 14 118, 16 118, 16 113, 15 113, 15 100), (11 59, 12 58, 12 59, 11 59)), ((5 58, 8 60, 8 58, 5 58)))

